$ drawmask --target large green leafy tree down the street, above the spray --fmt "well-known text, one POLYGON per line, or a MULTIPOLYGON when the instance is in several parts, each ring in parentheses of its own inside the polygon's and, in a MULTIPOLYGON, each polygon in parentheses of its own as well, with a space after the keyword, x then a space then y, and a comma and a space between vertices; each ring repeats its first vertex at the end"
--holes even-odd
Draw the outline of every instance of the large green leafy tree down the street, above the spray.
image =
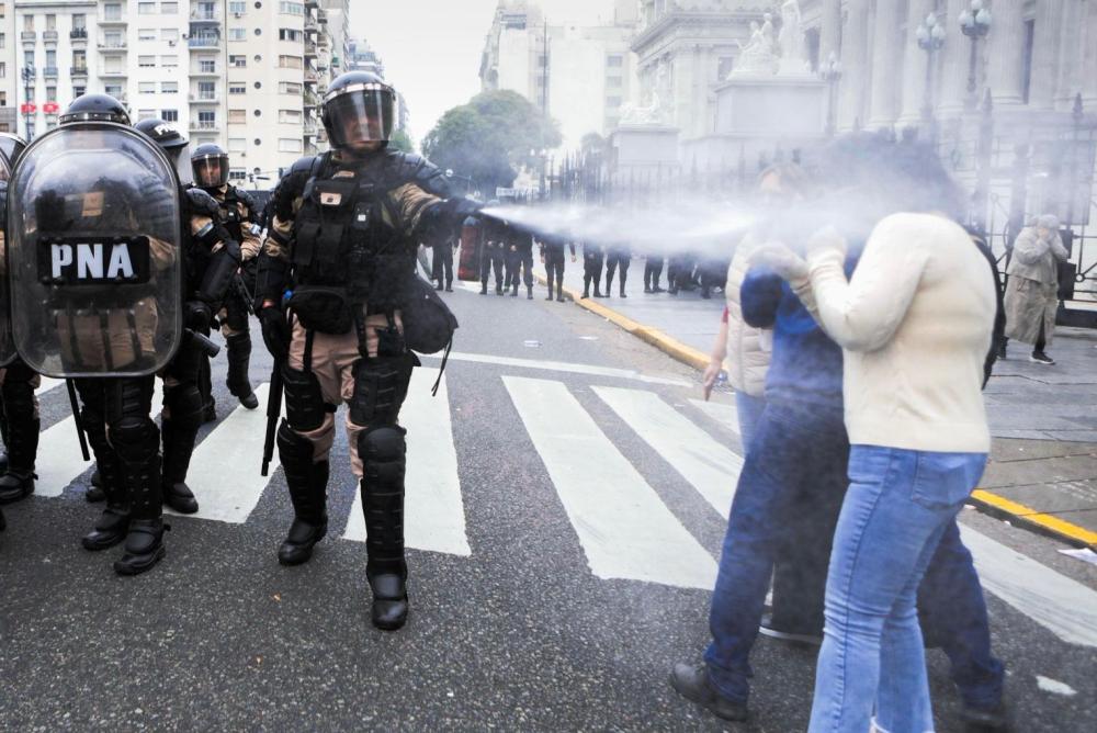
POLYGON ((521 94, 489 91, 446 111, 427 134, 422 149, 440 168, 453 169, 482 190, 494 191, 510 187, 518 167, 540 166, 536 151, 559 143, 556 123, 546 121, 521 94))

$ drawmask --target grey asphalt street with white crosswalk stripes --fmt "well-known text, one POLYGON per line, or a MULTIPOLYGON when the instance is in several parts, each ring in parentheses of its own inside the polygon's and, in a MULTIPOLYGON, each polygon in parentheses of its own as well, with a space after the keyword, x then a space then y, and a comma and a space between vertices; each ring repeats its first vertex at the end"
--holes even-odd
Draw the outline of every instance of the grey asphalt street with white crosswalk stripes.
MULTIPOLYGON (((310 563, 282 567, 285 482, 258 476, 262 416, 233 409, 219 357, 219 420, 191 481, 203 514, 171 518, 167 559, 120 578, 116 550, 80 548, 98 515, 83 500, 91 466, 75 435, 48 432, 70 426, 64 387, 44 390, 38 473, 52 485, 5 507, 0 533, 0 729, 804 730, 813 652, 760 639, 753 719, 736 726, 667 681, 709 638, 716 507, 740 453, 721 419, 731 396, 705 410, 697 372, 543 287, 534 301, 455 290, 444 392, 430 398, 439 360, 423 358, 405 410, 415 549, 411 617, 395 633, 369 622, 341 430, 329 535, 310 563)), ((257 348, 252 381, 269 372, 257 348)), ((1014 730, 1092 731, 1097 567, 974 510, 963 525, 1014 730)), ((962 730, 948 661, 931 652, 929 667, 937 730, 962 730)))

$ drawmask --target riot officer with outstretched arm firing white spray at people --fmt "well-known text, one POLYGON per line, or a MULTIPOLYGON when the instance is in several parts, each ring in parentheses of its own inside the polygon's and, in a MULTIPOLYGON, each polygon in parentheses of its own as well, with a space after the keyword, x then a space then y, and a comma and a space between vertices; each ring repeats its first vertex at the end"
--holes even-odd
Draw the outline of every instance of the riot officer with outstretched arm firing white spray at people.
POLYGON ((298 160, 275 190, 257 295, 287 413, 278 448, 294 520, 279 561, 306 562, 327 532, 335 411, 349 403, 372 621, 385 630, 400 628, 408 613, 398 417, 418 359, 405 341, 402 306, 417 243, 456 230, 480 207, 450 198, 444 174, 422 158, 387 148, 394 99, 392 87, 366 71, 331 82, 321 119, 332 150, 298 160))

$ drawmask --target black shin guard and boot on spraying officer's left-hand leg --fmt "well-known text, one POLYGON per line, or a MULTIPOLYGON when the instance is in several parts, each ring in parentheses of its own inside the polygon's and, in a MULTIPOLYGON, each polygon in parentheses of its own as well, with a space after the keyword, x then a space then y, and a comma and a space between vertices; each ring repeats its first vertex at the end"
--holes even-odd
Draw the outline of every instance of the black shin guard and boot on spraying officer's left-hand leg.
POLYGON ((293 523, 278 549, 283 565, 299 565, 313 556, 313 548, 328 532, 328 462, 313 462, 313 443, 285 420, 278 430, 278 452, 293 504, 293 523))

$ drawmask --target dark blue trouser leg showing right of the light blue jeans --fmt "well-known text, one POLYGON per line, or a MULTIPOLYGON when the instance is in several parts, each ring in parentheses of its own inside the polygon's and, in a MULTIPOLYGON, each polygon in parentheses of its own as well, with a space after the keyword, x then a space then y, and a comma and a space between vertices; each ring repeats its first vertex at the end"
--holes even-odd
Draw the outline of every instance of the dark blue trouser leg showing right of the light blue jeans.
POLYGON ((955 519, 945 528, 918 587, 918 620, 927 646, 948 655, 965 704, 988 709, 1002 701, 1006 670, 991 654, 983 587, 955 519))

